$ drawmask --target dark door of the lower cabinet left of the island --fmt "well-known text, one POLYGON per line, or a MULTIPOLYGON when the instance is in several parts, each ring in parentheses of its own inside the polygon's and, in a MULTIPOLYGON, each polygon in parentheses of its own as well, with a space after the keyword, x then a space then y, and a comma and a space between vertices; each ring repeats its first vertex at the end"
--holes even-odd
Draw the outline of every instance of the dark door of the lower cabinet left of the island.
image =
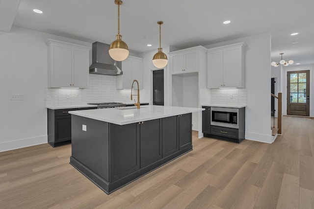
POLYGON ((54 142, 71 140, 71 116, 55 117, 55 140, 54 142))

